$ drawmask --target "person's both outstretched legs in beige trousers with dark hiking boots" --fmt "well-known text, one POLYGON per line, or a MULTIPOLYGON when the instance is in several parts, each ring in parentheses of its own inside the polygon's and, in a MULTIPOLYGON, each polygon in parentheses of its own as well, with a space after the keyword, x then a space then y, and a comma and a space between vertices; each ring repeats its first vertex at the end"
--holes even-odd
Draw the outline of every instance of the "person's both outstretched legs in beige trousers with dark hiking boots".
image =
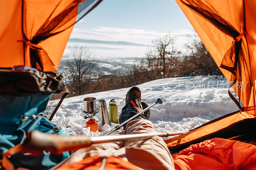
MULTIPOLYGON (((124 122, 134 114, 141 111, 140 89, 132 87, 126 95, 126 106, 122 109, 119 123, 124 122)), ((149 117, 147 113, 147 119, 149 117)), ((148 121, 144 114, 139 115, 127 123, 127 134, 156 133, 152 122, 148 121)), ((111 135, 125 134, 124 130, 117 130, 111 135)), ((154 136, 148 140, 133 140, 127 142, 112 142, 94 144, 91 147, 80 149, 72 154, 60 165, 82 160, 85 157, 100 155, 101 157, 120 156, 143 169, 174 169, 172 156, 162 137, 154 136), (123 147, 124 146, 124 147, 123 147), (120 149, 119 149, 120 148, 120 149)))

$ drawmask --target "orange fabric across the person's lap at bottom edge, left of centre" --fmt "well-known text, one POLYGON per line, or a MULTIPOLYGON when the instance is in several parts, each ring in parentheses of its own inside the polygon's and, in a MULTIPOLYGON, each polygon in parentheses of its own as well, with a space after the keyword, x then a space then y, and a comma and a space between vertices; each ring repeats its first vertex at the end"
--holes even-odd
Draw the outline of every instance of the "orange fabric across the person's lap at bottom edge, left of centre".
POLYGON ((87 157, 79 162, 61 166, 56 170, 77 170, 77 169, 86 169, 86 170, 98 170, 100 166, 104 167, 104 170, 139 170, 137 166, 132 163, 125 161, 121 157, 110 156, 107 158, 106 165, 99 155, 93 157, 87 157))

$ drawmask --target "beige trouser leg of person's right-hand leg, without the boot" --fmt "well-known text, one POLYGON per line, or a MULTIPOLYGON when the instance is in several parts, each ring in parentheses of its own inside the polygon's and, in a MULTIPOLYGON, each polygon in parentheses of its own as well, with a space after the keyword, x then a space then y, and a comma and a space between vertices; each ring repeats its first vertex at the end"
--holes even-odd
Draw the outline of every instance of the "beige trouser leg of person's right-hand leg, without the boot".
MULTIPOLYGON (((126 134, 156 133, 152 122, 133 120, 127 123, 126 134)), ((129 162, 143 169, 174 169, 172 155, 162 137, 126 141, 125 155, 129 162)))

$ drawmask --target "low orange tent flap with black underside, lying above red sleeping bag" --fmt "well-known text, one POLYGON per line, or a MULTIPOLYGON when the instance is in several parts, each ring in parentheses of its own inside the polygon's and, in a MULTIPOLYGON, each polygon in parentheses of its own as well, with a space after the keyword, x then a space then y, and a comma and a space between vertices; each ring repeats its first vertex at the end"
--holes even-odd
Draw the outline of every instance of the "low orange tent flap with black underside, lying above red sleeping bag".
POLYGON ((183 135, 165 140, 165 143, 172 154, 180 152, 191 144, 214 137, 256 144, 255 123, 254 116, 239 110, 207 122, 183 135))

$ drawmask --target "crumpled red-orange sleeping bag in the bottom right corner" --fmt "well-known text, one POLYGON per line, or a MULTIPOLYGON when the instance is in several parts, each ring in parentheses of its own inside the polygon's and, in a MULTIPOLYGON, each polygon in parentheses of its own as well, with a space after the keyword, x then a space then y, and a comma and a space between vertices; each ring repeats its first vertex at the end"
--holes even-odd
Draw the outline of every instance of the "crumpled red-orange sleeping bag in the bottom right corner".
POLYGON ((214 138, 174 154, 173 161, 177 170, 256 169, 256 146, 214 138))

